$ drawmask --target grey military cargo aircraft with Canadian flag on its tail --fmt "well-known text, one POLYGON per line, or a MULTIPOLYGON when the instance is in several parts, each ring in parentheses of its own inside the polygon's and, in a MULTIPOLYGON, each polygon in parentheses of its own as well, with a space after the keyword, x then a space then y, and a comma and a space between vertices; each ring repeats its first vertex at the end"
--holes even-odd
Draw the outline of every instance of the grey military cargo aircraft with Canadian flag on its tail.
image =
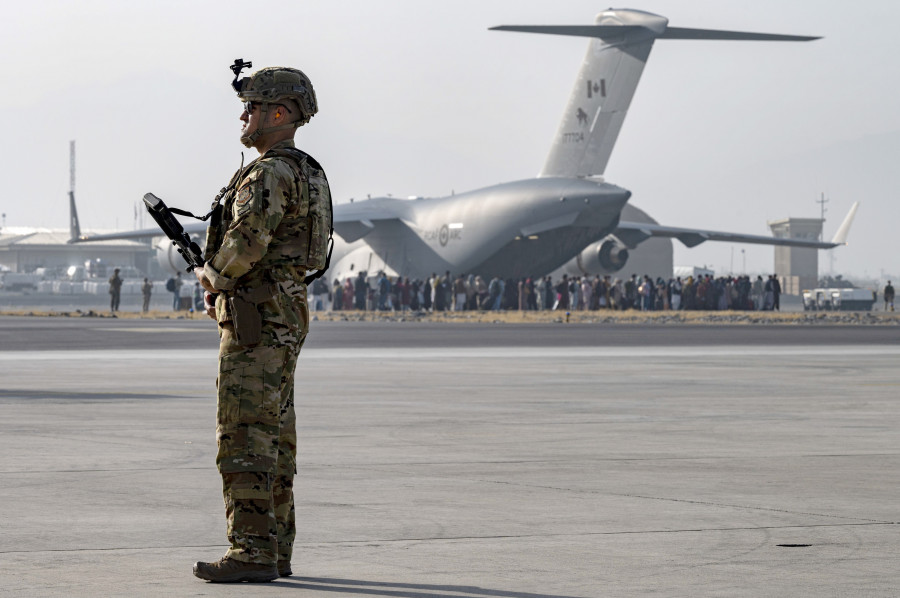
MULTIPOLYGON (((584 274, 607 274, 620 270, 629 250, 653 237, 676 238, 688 247, 728 241, 830 249, 845 243, 855 205, 830 242, 678 228, 654 223, 628 204, 630 191, 602 176, 656 40, 818 38, 675 28, 658 15, 612 9, 600 13, 593 25, 492 29, 591 38, 540 174, 449 197, 378 197, 335 205, 329 280, 343 281, 361 271, 378 270, 410 278, 445 271, 524 277, 563 266, 584 274)), ((185 229, 200 234, 205 225, 185 229)), ((146 237, 148 232, 85 240, 146 237)), ((183 267, 167 240, 158 250, 166 269, 183 267)))

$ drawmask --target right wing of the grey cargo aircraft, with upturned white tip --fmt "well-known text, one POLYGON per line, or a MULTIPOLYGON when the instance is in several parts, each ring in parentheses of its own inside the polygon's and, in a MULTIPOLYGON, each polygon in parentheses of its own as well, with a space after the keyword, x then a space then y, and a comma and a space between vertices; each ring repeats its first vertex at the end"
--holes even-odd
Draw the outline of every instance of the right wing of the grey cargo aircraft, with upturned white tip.
POLYGON ((758 245, 782 245, 787 247, 809 247, 810 249, 832 249, 839 245, 847 244, 847 234, 850 225, 856 216, 859 202, 850 207, 850 212, 844 218, 844 222, 838 228, 831 241, 818 241, 814 239, 786 239, 779 237, 767 237, 764 235, 746 235, 743 233, 728 233, 714 230, 701 230, 696 228, 677 228, 674 226, 662 226, 645 222, 619 221, 619 226, 613 234, 630 248, 637 247, 650 237, 670 237, 681 241, 687 247, 695 247, 704 241, 725 241, 728 243, 754 243, 758 245))

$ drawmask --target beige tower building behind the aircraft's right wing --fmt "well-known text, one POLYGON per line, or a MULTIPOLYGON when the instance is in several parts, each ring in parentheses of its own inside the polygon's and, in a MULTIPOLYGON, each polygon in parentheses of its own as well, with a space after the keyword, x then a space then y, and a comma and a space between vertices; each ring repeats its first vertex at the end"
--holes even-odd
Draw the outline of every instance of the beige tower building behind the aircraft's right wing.
MULTIPOLYGON (((821 218, 784 218, 767 224, 780 239, 808 239, 822 236, 821 218)), ((819 280, 819 251, 806 247, 775 247, 775 274, 781 279, 781 290, 799 295, 803 289, 814 289, 819 280)))

